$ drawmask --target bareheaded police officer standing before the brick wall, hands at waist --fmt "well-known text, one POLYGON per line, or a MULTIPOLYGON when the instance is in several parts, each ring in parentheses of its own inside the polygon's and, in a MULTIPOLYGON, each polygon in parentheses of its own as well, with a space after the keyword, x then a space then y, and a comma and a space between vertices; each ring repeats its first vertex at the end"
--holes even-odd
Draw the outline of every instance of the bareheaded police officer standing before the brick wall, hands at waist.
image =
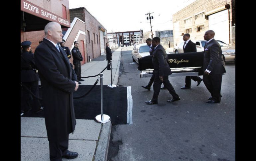
POLYGON ((80 81, 84 81, 81 79, 81 62, 83 61, 83 57, 81 52, 78 49, 78 41, 74 41, 74 47, 71 50, 72 56, 73 56, 73 64, 75 66, 75 74, 77 75, 77 80, 79 81, 78 83, 81 84, 80 81))

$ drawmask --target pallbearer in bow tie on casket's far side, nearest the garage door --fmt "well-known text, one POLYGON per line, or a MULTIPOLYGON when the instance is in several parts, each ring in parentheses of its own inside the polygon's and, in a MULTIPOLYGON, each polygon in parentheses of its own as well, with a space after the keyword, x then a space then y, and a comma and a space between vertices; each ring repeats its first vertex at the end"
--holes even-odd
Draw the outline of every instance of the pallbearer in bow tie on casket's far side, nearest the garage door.
MULTIPOLYGON (((196 52, 195 43, 190 40, 190 34, 184 34, 183 35, 183 40, 184 40, 184 45, 183 45, 184 53, 186 53, 186 52, 196 52)), ((202 81, 202 79, 198 76, 186 76, 186 78, 185 78, 185 83, 186 84, 185 84, 185 86, 181 87, 181 89, 191 88, 191 79, 193 79, 193 81, 197 81, 196 86, 198 86, 202 81)))

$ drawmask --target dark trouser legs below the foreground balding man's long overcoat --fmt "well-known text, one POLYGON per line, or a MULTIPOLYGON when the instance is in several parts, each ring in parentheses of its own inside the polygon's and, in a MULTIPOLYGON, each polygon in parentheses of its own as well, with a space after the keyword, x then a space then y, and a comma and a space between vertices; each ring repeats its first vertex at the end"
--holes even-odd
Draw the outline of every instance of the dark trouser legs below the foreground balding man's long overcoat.
POLYGON ((62 156, 67 152, 68 140, 60 142, 49 141, 50 148, 50 160, 51 161, 62 161, 62 156))

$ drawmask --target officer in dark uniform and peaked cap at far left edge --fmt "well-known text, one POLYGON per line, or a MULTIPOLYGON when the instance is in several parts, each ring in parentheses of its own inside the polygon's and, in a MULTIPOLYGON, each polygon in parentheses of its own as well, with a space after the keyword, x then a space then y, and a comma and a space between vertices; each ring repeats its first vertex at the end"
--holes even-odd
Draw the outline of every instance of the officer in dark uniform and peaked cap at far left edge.
MULTIPOLYGON (((30 53, 31 42, 23 41, 21 43, 21 83, 26 86, 35 96, 39 97, 38 80, 39 76, 35 66, 34 54, 30 53)), ((31 103, 29 100, 31 95, 29 91, 23 89, 21 95, 21 112, 27 112, 32 109, 34 112, 40 112, 43 110, 41 104, 37 98, 32 98, 31 103)))

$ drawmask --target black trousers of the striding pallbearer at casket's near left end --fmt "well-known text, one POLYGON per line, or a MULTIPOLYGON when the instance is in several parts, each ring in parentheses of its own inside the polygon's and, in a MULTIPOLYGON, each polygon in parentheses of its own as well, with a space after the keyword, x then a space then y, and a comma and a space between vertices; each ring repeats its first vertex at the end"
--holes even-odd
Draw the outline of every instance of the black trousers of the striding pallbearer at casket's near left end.
POLYGON ((153 89, 154 89, 154 94, 153 94, 153 98, 152 98, 152 102, 158 102, 158 95, 160 92, 160 88, 162 83, 164 83, 164 86, 167 88, 167 90, 169 91, 169 93, 173 96, 173 98, 179 98, 179 95, 175 92, 172 84, 170 83, 168 76, 163 77, 164 81, 162 82, 159 77, 155 76, 154 79, 154 85, 153 85, 153 89))

